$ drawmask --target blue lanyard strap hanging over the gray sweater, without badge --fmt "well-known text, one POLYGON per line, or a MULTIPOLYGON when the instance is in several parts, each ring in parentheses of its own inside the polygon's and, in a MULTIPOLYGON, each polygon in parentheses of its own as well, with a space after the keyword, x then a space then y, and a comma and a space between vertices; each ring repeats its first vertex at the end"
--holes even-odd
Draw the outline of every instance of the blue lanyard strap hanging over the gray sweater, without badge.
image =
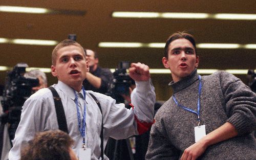
POLYGON ((199 126, 199 125, 200 125, 200 96, 201 96, 201 89, 202 89, 202 83, 201 83, 201 76, 200 76, 200 75, 198 75, 198 79, 199 79, 199 87, 198 87, 197 112, 196 112, 195 110, 193 110, 193 109, 190 109, 190 108, 187 108, 187 107, 185 107, 185 106, 183 106, 183 105, 180 105, 180 104, 178 103, 178 101, 176 100, 175 95, 173 95, 173 100, 174 100, 174 102, 175 102, 179 107, 181 107, 182 109, 185 109, 185 110, 187 110, 187 111, 190 111, 190 112, 192 112, 192 113, 195 113, 195 114, 198 116, 197 121, 198 121, 198 126, 199 126))

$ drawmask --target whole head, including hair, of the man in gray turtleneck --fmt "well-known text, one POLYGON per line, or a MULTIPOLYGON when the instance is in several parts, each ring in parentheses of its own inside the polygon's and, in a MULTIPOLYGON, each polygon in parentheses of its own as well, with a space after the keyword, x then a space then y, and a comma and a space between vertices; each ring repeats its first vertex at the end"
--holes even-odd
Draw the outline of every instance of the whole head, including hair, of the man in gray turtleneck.
POLYGON ((194 37, 186 32, 171 35, 166 41, 162 62, 172 72, 174 82, 189 76, 199 64, 194 37))

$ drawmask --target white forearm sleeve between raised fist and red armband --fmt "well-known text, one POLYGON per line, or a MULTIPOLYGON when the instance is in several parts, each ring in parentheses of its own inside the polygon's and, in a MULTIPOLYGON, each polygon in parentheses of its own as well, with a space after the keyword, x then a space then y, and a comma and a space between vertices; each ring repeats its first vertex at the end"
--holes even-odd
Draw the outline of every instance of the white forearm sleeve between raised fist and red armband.
POLYGON ((136 88, 131 94, 134 113, 140 122, 152 123, 156 102, 155 88, 151 79, 135 82, 136 88))

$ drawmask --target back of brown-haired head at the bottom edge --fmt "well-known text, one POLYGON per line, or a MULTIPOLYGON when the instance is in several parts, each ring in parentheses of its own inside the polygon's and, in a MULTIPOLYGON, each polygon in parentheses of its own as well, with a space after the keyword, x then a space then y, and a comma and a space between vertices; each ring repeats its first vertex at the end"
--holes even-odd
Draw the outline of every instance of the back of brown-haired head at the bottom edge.
POLYGON ((21 152, 21 160, 78 160, 71 149, 74 141, 60 130, 38 132, 21 152))

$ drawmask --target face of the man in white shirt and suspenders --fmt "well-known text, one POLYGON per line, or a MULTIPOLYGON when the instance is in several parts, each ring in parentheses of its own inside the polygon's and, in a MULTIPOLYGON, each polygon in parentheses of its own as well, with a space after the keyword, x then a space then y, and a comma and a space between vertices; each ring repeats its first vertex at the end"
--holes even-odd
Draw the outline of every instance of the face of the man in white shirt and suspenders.
POLYGON ((54 77, 79 92, 89 66, 82 49, 69 45, 57 51, 56 65, 51 69, 54 77))

